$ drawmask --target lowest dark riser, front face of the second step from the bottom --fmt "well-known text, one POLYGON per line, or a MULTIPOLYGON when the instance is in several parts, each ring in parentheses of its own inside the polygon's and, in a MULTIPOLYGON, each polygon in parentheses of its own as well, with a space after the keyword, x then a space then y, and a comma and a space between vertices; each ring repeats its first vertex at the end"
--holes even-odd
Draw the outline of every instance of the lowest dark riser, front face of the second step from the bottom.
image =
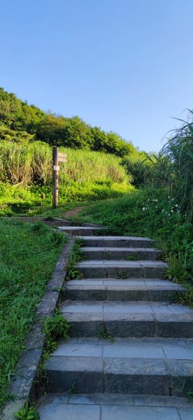
MULTIPOLYGON (((46 392, 64 393, 76 383, 76 393, 128 393, 142 395, 183 394, 183 383, 187 377, 169 377, 148 374, 111 374, 103 372, 45 371, 48 381, 46 392)), ((193 385, 193 379, 192 379, 193 385)), ((190 384, 191 390, 191 384, 190 384)))

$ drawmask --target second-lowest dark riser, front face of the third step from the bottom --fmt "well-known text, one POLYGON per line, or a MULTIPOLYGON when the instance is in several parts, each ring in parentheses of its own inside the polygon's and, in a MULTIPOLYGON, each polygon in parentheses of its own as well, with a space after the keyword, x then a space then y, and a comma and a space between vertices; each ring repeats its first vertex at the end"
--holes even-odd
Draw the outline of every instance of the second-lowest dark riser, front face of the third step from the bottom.
MULTIPOLYGON (((64 314, 65 316, 65 314, 64 314)), ((66 314, 66 319, 71 324, 71 337, 97 337, 99 332, 106 328, 113 337, 167 337, 167 338, 193 338, 191 322, 164 321, 71 321, 66 314)), ((126 314, 127 317, 127 314, 126 314)))

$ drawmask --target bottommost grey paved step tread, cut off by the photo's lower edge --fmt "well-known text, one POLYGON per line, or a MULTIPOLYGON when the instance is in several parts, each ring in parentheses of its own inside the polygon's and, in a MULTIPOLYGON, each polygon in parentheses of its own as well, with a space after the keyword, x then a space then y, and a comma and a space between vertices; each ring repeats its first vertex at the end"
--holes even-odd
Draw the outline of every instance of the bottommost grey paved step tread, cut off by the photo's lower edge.
MULTIPOLYGON (((83 391, 82 391, 83 392, 83 391)), ((41 420, 192 420, 186 398, 130 394, 48 394, 38 412, 41 420)))

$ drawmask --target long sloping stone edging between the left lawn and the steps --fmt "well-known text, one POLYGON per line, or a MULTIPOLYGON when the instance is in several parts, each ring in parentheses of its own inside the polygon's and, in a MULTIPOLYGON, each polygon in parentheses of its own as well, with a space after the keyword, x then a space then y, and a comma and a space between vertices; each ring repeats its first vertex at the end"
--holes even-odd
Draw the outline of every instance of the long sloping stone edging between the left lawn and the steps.
POLYGON ((66 234, 68 242, 62 249, 59 259, 52 272, 48 288, 38 305, 34 323, 31 325, 26 341, 26 350, 22 353, 13 376, 8 386, 8 393, 14 395, 15 399, 7 402, 0 412, 1 420, 15 420, 13 412, 17 412, 26 400, 32 402, 36 399, 36 373, 41 362, 45 335, 43 332, 43 320, 46 316, 52 316, 55 308, 62 302, 65 290, 66 263, 75 241, 72 235, 66 234))

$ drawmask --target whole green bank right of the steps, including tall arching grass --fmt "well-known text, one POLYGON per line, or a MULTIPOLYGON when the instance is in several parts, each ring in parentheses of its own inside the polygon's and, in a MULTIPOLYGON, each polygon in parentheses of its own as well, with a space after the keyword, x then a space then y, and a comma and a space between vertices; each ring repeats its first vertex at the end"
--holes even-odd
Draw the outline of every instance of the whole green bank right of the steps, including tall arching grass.
MULTIPOLYGON (((141 188, 116 200, 85 207, 82 221, 103 223, 114 235, 149 236, 169 262, 168 276, 188 285, 180 302, 193 306, 193 113, 172 133, 159 155, 136 165, 141 188), (147 163, 147 169, 145 165, 147 163), (146 171, 146 172, 145 172, 146 171), (161 187, 161 188, 160 188, 161 187)), ((127 166, 127 170, 131 169, 127 166)))

